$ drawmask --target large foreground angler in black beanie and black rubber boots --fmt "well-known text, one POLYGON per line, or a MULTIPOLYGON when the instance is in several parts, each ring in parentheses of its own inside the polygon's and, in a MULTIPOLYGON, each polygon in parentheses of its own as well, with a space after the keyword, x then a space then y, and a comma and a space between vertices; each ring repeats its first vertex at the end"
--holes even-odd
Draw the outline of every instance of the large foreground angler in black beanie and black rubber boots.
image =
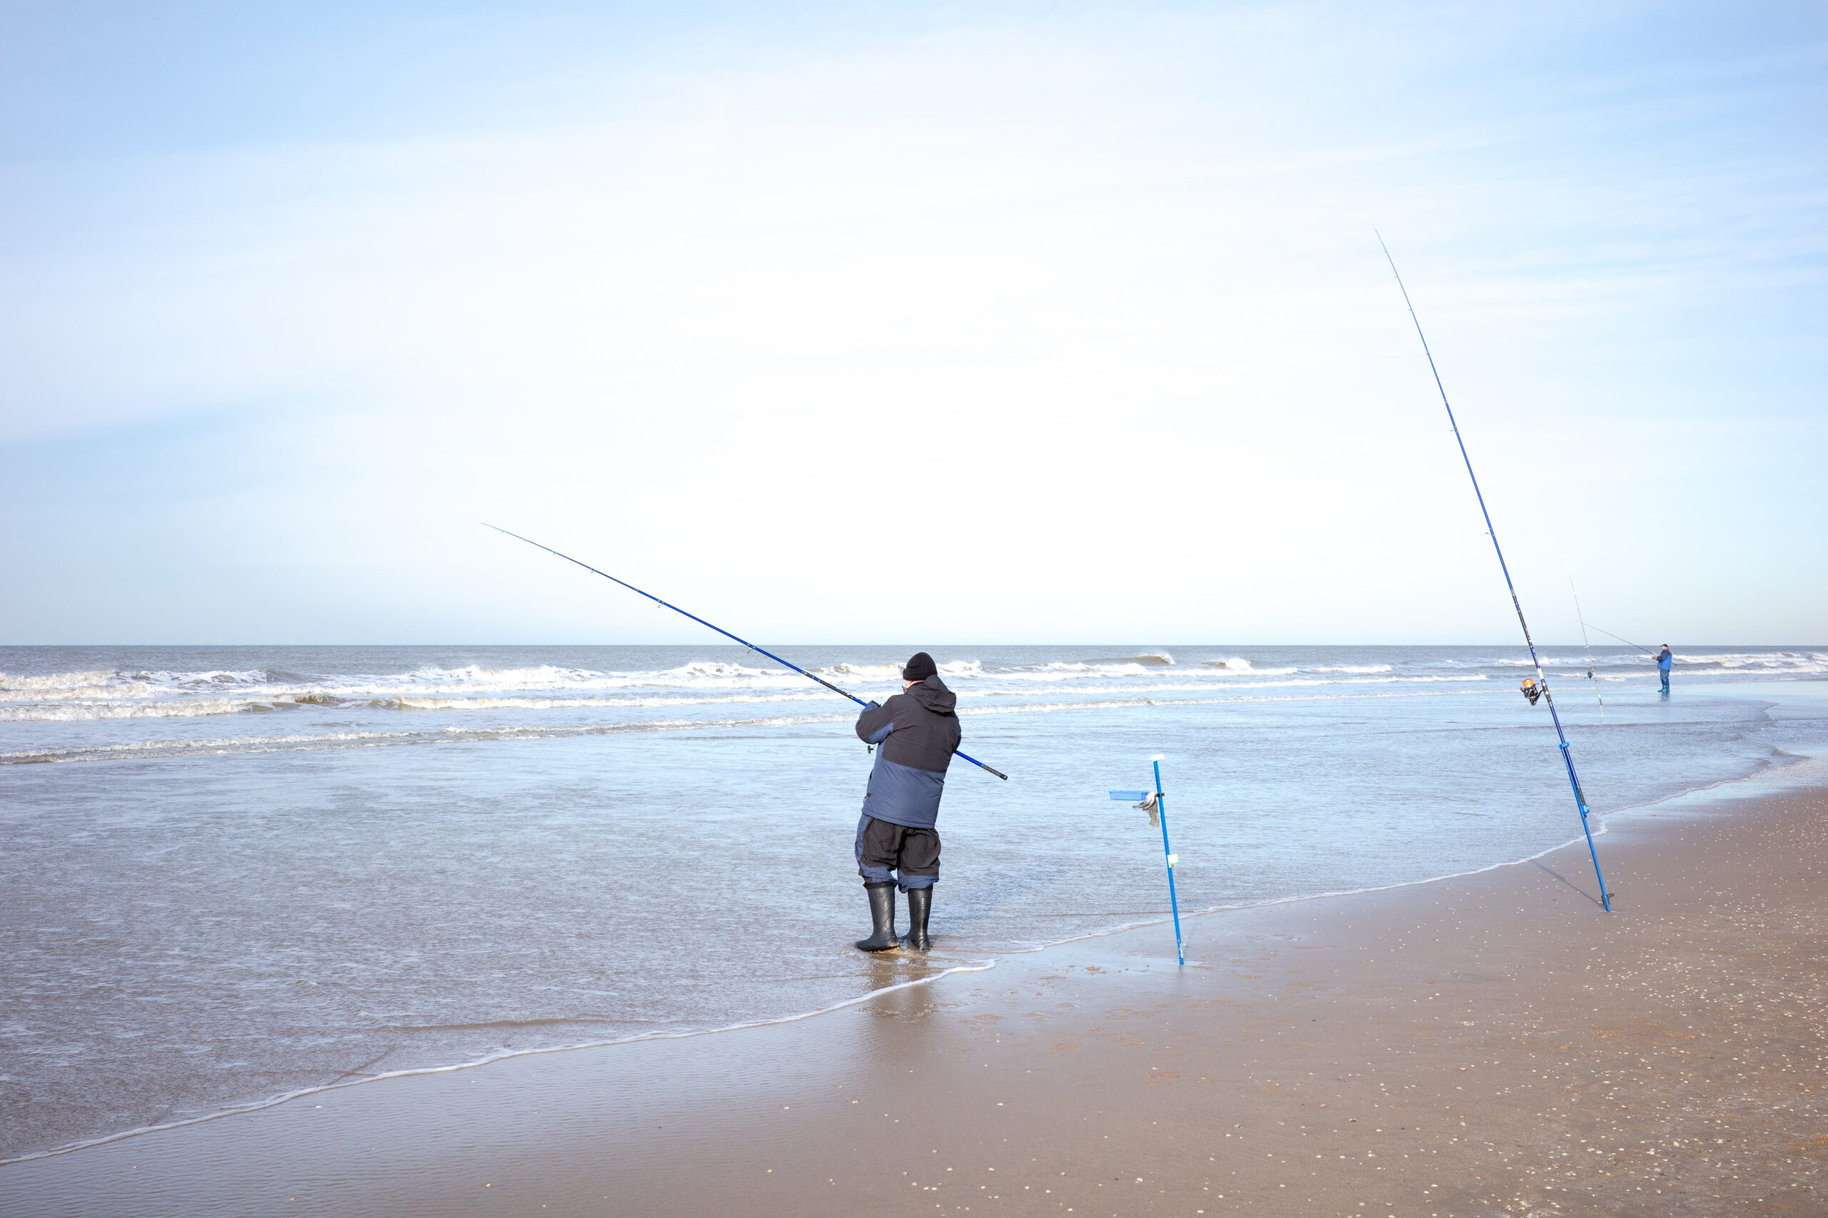
POLYGON ((896 939, 896 887, 909 895, 909 946, 925 951, 932 886, 940 880, 940 794, 958 749, 958 694, 940 681, 927 652, 901 668, 901 692, 857 716, 857 736, 877 745, 870 789, 857 820, 857 875, 870 898, 874 933, 863 951, 888 951, 896 939))

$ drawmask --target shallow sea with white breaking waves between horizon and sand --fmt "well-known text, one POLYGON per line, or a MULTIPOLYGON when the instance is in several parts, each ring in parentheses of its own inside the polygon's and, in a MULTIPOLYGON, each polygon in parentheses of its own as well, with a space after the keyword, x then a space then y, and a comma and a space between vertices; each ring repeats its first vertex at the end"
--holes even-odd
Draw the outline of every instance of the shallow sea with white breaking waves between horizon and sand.
MULTIPOLYGON (((881 699, 916 645, 777 646, 881 699)), ((0 1160, 790 1019, 1579 836, 1514 646, 927 646, 936 950, 865 957, 857 707, 740 646, 0 648, 0 1160)), ((1828 646, 1545 650, 1605 820, 1828 752, 1828 646)), ((1576 877, 1578 878, 1578 877, 1576 877)), ((1587 887, 1590 886, 1587 877, 1587 887)), ((1623 895, 1629 900, 1629 893, 1623 895)))

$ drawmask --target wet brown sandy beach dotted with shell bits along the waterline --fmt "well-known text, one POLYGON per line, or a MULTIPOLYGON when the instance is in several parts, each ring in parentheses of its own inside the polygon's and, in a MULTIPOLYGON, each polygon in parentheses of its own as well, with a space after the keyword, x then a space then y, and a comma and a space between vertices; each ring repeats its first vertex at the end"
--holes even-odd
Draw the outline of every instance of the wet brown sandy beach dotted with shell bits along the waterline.
POLYGON ((15 1163, 0 1213, 1828 1213, 1828 793, 1601 860, 1612 915, 1563 849, 15 1163))

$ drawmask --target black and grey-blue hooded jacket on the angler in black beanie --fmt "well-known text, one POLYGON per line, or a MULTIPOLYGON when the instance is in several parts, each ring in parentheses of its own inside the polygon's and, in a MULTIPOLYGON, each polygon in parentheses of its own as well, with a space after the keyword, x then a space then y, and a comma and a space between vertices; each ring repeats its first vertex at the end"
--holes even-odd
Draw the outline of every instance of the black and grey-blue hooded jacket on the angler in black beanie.
POLYGON ((932 676, 857 716, 857 736, 876 749, 863 814, 909 829, 932 829, 940 818, 945 769, 960 730, 958 694, 932 676))

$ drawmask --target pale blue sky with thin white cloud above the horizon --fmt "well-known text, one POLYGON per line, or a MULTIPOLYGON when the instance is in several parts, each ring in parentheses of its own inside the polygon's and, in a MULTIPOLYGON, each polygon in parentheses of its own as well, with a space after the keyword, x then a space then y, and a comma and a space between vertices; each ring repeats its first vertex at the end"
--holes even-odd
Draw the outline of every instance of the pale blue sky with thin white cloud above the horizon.
POLYGON ((0 5, 0 645, 1828 641, 1819 4, 0 5))

